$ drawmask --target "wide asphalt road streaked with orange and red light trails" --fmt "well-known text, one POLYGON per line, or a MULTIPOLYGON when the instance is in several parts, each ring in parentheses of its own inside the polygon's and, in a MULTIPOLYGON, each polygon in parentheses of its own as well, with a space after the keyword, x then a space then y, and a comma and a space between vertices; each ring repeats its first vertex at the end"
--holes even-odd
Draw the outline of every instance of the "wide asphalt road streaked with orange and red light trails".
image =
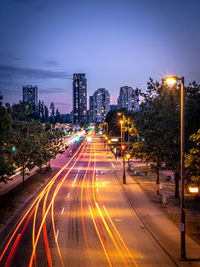
POLYGON ((124 196, 100 138, 83 142, 13 227, 0 266, 175 266, 124 196))

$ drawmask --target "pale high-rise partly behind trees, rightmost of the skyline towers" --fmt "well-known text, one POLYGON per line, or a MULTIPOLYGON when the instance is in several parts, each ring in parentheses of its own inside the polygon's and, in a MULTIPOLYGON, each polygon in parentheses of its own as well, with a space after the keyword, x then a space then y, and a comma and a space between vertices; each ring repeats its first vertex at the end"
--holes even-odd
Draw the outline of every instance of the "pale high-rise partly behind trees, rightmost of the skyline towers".
POLYGON ((128 111, 137 111, 139 107, 139 97, 135 90, 129 86, 121 87, 117 105, 118 108, 125 108, 128 111))

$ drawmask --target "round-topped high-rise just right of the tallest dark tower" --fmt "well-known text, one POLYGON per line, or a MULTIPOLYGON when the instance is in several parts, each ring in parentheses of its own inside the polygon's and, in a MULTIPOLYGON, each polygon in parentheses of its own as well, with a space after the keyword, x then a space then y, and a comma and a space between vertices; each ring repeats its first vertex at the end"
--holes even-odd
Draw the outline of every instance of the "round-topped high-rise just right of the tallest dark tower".
POLYGON ((105 88, 99 88, 90 97, 90 121, 103 123, 109 111, 110 94, 105 88))

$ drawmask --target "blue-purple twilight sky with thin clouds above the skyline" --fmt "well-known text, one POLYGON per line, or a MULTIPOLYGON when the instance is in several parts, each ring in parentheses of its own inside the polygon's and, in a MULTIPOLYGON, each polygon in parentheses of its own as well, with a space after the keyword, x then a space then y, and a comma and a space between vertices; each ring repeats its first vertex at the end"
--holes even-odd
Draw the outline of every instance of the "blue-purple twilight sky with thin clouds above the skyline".
POLYGON ((87 75, 88 96, 149 77, 200 83, 200 0, 0 0, 0 91, 18 102, 22 85, 61 113, 72 108, 72 74, 87 75))

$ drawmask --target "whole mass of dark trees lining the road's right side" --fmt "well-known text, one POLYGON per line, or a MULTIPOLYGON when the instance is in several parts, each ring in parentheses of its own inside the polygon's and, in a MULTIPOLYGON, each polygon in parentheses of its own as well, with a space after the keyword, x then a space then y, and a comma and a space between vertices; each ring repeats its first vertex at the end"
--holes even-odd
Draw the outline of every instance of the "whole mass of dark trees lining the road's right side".
MULTIPOLYGON (((185 166, 189 184, 200 185, 200 85, 189 84, 185 90, 185 166)), ((114 110, 107 114, 108 133, 120 136, 117 114, 125 116, 125 139, 131 135, 132 157, 150 164, 160 183, 160 171, 174 172, 174 197, 179 198, 180 180, 180 87, 172 88, 149 80, 146 92, 136 91, 142 104, 137 112, 114 110)))

